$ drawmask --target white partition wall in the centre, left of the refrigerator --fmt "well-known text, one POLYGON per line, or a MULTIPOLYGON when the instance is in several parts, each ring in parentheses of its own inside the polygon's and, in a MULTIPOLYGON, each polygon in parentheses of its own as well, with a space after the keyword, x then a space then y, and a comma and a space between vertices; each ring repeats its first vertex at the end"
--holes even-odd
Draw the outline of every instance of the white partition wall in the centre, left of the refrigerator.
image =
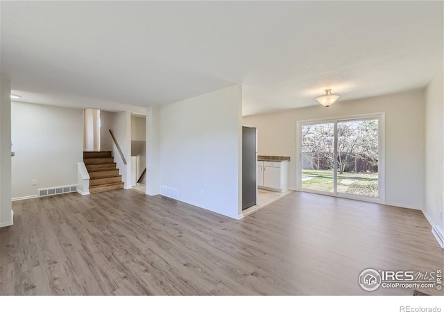
MULTIPOLYGON (((160 110, 160 185, 178 189, 178 199, 182 202, 239 218, 241 86, 157 109, 160 110)), ((148 109, 148 180, 154 118, 155 112, 148 109)))

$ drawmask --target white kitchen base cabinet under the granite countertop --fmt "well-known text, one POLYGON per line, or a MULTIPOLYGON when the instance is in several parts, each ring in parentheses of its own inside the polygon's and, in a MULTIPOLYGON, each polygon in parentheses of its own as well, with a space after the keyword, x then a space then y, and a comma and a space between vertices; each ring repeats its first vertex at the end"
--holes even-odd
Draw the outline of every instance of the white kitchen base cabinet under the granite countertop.
POLYGON ((257 162, 257 187, 270 191, 287 191, 289 162, 257 162))

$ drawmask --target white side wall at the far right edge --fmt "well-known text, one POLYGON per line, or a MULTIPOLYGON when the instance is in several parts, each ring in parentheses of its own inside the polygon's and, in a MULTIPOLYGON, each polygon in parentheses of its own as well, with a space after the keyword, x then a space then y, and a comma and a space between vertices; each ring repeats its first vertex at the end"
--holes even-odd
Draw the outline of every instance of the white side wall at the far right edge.
POLYGON ((424 213, 432 226, 444 233, 443 192, 444 192, 444 139, 443 139, 443 69, 427 86, 425 101, 425 172, 424 172, 424 213))

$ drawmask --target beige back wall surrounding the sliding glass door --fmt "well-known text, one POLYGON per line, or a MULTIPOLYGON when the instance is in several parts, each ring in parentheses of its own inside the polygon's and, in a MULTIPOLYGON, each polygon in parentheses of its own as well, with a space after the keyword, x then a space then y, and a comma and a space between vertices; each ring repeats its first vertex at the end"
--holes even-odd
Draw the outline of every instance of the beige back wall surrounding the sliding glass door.
POLYGON ((424 102, 424 91, 412 90, 246 116, 243 123, 257 127, 258 155, 291 157, 289 187, 296 189, 296 121, 386 112, 386 203, 422 209, 424 102))

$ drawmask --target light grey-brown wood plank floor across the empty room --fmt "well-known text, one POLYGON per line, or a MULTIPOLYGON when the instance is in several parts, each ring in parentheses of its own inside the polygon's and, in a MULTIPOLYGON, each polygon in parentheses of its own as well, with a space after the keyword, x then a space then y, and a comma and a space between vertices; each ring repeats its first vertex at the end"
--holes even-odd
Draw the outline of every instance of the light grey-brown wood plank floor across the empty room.
POLYGON ((367 293, 359 273, 444 266, 420 211, 310 193, 239 221, 130 190, 13 209, 15 225, 0 229, 1 295, 411 295, 367 293))

